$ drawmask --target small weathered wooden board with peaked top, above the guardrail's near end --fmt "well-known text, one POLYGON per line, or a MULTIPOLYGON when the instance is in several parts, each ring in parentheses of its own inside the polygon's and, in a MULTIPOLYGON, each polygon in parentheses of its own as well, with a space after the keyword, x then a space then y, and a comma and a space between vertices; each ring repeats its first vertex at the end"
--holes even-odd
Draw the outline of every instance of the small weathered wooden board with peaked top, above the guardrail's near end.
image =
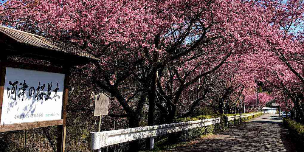
POLYGON ((109 95, 101 93, 95 95, 94 116, 106 116, 109 111, 109 95))

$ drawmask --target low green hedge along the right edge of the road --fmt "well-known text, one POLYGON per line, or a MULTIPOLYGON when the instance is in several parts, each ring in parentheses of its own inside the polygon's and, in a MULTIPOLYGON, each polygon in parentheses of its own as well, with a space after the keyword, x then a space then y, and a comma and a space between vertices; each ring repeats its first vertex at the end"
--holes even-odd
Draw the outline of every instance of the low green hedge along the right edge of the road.
POLYGON ((298 147, 304 147, 304 125, 289 118, 283 118, 283 125, 289 130, 298 147))

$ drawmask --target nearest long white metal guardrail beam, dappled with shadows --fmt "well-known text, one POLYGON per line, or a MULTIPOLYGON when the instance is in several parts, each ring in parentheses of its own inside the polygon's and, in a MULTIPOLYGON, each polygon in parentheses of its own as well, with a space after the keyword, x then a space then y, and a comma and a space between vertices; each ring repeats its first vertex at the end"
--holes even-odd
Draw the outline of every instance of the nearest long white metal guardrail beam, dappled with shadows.
POLYGON ((220 123, 221 118, 203 119, 196 121, 188 121, 181 123, 170 123, 155 126, 136 127, 120 130, 110 130, 103 132, 89 133, 89 147, 92 150, 98 150, 103 147, 125 143, 133 140, 139 140, 167 133, 175 133, 179 131, 209 126, 220 123))

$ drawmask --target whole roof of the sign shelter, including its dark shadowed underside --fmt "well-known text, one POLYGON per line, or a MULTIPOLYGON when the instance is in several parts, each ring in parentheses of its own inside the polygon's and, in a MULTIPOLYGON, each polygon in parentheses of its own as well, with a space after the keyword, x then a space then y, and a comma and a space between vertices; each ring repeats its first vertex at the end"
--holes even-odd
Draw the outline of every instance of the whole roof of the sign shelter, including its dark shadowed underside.
POLYGON ((68 60, 73 64, 85 64, 99 60, 79 47, 5 26, 0 26, 0 45, 4 48, 1 50, 1 54, 6 55, 43 60, 68 60))

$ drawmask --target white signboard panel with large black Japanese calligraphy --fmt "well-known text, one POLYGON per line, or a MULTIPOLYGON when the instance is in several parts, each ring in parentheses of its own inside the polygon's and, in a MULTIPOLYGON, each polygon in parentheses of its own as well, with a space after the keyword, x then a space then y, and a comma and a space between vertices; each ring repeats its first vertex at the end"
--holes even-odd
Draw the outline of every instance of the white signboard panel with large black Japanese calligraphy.
POLYGON ((64 74, 6 68, 1 125, 61 119, 64 74))

